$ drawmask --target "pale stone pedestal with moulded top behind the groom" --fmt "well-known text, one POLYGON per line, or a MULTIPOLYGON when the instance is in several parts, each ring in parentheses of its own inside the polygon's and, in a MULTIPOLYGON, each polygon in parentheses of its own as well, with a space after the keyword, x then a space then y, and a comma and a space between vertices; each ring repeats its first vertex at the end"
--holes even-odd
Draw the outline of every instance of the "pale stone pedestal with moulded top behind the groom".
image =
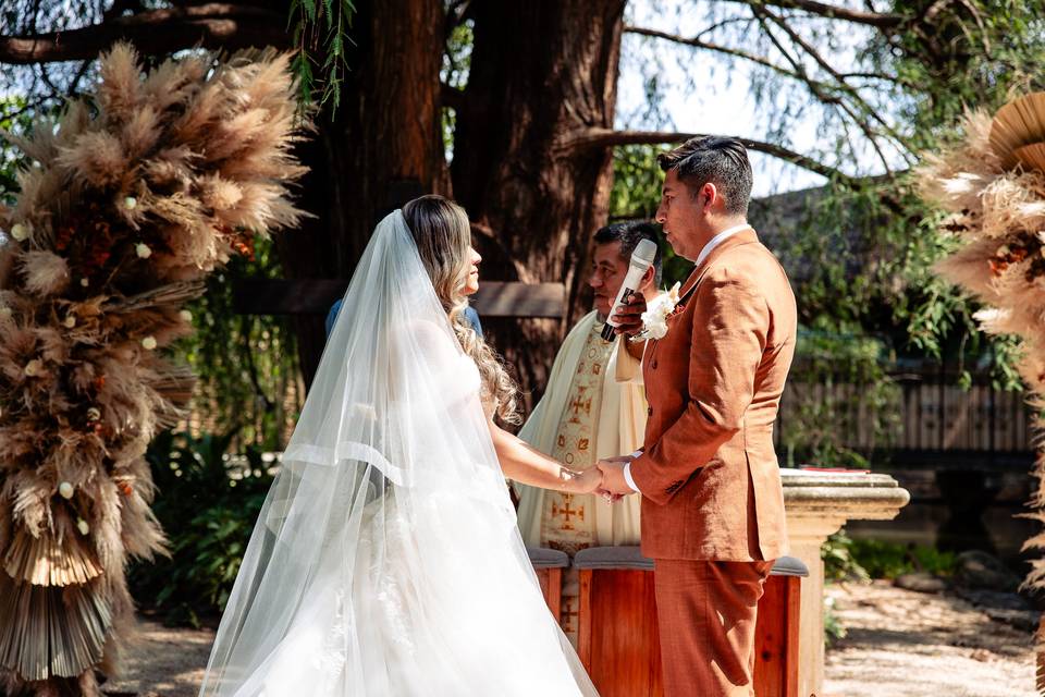
POLYGON ((790 554, 806 562, 802 579, 800 660, 801 697, 820 697, 824 682, 824 563, 821 545, 847 521, 888 521, 910 501, 885 474, 780 469, 790 554))

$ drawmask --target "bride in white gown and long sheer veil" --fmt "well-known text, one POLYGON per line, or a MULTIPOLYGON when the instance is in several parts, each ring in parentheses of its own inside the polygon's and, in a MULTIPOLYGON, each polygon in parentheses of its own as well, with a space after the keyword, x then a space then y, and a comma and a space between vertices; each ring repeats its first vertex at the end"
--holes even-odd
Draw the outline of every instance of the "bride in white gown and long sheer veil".
POLYGON ((504 478, 590 492, 497 427, 515 386, 464 318, 480 257, 440 196, 378 224, 243 559, 201 696, 595 695, 504 478))

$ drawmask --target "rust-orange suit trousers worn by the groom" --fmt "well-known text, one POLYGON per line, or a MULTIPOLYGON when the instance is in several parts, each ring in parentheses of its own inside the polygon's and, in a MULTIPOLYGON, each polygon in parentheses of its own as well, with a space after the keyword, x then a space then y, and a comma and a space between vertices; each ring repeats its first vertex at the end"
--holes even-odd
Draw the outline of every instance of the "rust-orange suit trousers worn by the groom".
POLYGON ((772 567, 654 560, 664 697, 754 695, 754 621, 772 567))

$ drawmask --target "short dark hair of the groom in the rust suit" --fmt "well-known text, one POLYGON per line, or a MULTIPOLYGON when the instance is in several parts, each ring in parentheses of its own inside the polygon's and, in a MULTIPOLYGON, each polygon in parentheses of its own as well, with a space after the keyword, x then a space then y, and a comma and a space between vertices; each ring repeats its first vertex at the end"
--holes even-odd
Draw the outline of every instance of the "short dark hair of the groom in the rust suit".
POLYGON ((665 172, 675 171, 690 195, 711 182, 725 198, 726 212, 748 215, 751 198, 751 162, 748 150, 736 138, 701 135, 674 150, 661 152, 656 162, 665 172))

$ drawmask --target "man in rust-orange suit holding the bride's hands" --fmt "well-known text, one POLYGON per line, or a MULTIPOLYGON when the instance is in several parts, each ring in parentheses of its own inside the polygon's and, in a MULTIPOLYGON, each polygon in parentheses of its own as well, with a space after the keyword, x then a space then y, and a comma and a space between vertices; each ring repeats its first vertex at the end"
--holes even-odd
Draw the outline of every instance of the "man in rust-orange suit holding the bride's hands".
MULTIPOLYGON (((751 166, 734 138, 692 138, 659 157, 656 220, 696 262, 643 360, 644 447, 599 463, 606 493, 642 494, 654 560, 664 693, 753 695, 755 610, 786 551, 773 423, 795 352, 784 269, 747 223, 751 166)), ((617 318, 641 329, 641 295, 617 318)))

